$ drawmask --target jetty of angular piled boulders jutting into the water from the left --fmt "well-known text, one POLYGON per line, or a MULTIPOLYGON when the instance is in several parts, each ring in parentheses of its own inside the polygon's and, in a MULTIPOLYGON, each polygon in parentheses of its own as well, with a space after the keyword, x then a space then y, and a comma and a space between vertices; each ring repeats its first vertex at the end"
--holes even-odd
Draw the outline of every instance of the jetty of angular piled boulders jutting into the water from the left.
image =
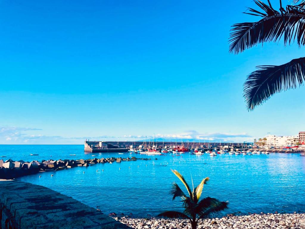
POLYGON ((136 160, 150 160, 150 158, 91 158, 91 159, 79 159, 79 160, 42 160, 25 162, 23 160, 13 161, 8 159, 0 160, 0 179, 14 179, 16 177, 30 175, 41 171, 58 171, 63 169, 70 169, 73 167, 87 167, 95 165, 97 163, 120 163, 122 161, 136 161, 136 160))

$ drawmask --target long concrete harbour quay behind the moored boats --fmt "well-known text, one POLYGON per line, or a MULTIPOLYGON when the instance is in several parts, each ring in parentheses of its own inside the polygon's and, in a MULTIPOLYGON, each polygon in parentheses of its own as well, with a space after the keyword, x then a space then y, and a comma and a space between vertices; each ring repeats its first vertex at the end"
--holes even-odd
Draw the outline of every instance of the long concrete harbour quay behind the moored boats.
MULTIPOLYGON (((245 148, 252 145, 252 143, 221 143, 221 142, 178 142, 178 141, 154 141, 154 146, 158 149, 164 147, 184 147, 186 149, 220 149, 221 147, 230 146, 233 148, 245 148)), ((85 152, 127 152, 132 146, 134 149, 142 145, 144 148, 144 141, 89 141, 84 142, 85 152)), ((152 145, 152 141, 147 140, 146 145, 152 145)))

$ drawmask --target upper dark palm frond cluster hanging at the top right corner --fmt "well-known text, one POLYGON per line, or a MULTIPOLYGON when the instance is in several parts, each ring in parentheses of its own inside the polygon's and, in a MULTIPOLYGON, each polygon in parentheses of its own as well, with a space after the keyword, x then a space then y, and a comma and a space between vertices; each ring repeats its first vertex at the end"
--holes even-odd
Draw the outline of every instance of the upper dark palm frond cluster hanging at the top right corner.
POLYGON ((304 23, 305 10, 303 3, 287 5, 279 11, 260 0, 254 0, 261 11, 248 8, 250 15, 263 17, 257 22, 234 24, 229 38, 231 53, 243 52, 258 43, 278 42, 284 37, 284 44, 297 41, 298 45, 305 45, 304 23))

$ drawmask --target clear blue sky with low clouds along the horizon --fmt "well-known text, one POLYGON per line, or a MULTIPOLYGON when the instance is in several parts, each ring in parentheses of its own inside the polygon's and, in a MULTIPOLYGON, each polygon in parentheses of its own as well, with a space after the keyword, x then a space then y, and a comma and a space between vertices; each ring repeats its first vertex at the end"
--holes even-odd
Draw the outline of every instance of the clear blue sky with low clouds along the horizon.
MULTIPOLYGON (((275 2, 275 1, 274 1, 275 2)), ((276 1, 277 3, 278 1, 276 1)), ((304 47, 228 53, 253 1, 1 1, 0 144, 151 136, 251 141, 304 131, 304 87, 246 110, 246 75, 304 47)))

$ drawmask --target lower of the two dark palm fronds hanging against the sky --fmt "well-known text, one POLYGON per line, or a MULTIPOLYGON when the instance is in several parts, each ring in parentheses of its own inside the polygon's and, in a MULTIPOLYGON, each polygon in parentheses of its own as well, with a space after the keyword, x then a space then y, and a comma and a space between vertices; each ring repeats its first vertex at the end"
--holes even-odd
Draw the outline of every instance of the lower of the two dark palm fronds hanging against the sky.
POLYGON ((305 57, 279 66, 263 65, 257 68, 244 83, 248 110, 253 110, 275 93, 296 88, 305 81, 305 57))

